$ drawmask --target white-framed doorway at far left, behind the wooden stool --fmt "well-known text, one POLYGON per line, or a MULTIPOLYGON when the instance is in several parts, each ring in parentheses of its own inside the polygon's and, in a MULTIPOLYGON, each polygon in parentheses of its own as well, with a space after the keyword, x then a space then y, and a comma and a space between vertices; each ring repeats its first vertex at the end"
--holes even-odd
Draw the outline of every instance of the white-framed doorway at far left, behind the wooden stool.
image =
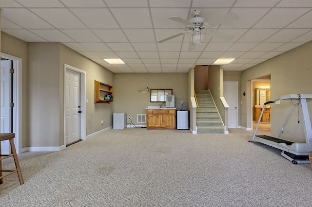
MULTIPOLYGON (((6 101, 9 106, 9 112, 5 116, 8 116, 7 119, 2 119, 2 115, 4 115, 4 110, 1 109, 1 132, 13 132, 15 133, 14 144, 16 148, 17 154, 22 153, 22 108, 21 108, 21 94, 22 94, 22 87, 21 87, 21 66, 22 60, 19 57, 15 57, 13 55, 9 55, 6 53, 1 52, 1 84, 2 81, 7 81, 8 79, 4 76, 2 77, 2 61, 8 61, 9 65, 7 66, 10 70, 10 83, 8 83, 8 87, 1 86, 1 102, 6 101), (2 80, 3 78, 3 80, 2 80), (4 80, 5 79, 5 80, 4 80), (8 121, 8 122, 7 122, 8 121), (4 126, 4 124, 8 126, 4 126)), ((5 64, 3 64, 5 66, 5 64)), ((6 69, 7 70, 7 69, 6 69)), ((2 107, 1 107, 2 108, 2 107)), ((2 145, 3 146, 3 145, 2 145)), ((9 146, 6 146, 4 143, 4 150, 9 146)), ((10 151, 10 148, 6 149, 10 151)), ((24 151, 26 152, 26 150, 24 151)))

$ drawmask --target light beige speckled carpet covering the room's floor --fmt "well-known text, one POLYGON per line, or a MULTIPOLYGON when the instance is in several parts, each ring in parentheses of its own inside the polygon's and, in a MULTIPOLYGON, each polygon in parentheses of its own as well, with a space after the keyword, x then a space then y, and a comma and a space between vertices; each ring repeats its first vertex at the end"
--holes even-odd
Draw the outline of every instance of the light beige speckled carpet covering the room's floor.
POLYGON ((112 129, 61 152, 22 153, 25 184, 5 177, 0 206, 311 207, 310 164, 248 142, 251 134, 112 129))

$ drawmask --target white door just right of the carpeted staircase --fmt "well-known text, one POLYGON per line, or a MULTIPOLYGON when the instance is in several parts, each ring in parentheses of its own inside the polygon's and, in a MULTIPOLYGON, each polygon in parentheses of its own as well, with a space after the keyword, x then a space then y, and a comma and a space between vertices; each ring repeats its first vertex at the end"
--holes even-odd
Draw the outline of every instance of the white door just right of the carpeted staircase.
POLYGON ((229 104, 229 128, 237 128, 238 121, 238 83, 224 82, 223 96, 229 104))

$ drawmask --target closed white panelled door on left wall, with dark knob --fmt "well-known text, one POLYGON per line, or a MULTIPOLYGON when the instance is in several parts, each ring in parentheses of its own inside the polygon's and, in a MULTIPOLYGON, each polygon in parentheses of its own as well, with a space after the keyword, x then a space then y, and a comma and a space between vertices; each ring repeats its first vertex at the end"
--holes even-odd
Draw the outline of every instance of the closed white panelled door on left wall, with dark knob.
POLYGON ((80 139, 80 73, 67 69, 65 74, 66 145, 80 139))

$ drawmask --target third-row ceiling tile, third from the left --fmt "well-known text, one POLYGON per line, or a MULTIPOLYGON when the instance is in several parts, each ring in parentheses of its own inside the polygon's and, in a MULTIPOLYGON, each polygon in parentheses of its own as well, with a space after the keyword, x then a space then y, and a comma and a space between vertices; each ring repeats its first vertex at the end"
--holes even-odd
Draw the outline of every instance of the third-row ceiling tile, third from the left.
POLYGON ((94 35, 90 30, 60 30, 70 38, 77 42, 101 42, 101 40, 94 35))

